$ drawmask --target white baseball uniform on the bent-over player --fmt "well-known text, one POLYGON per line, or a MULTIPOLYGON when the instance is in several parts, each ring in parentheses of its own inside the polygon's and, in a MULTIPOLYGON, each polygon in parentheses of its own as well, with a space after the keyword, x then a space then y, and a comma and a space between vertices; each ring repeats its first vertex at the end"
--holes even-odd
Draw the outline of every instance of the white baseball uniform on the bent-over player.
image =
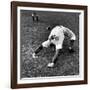
POLYGON ((52 29, 52 31, 48 37, 48 40, 43 42, 42 45, 43 45, 43 47, 48 47, 51 43, 53 43, 56 46, 56 50, 62 49, 63 40, 65 38, 65 35, 70 37, 71 40, 76 40, 75 34, 70 29, 60 25, 60 26, 56 26, 52 29), (55 38, 50 40, 52 35, 54 35, 55 38))

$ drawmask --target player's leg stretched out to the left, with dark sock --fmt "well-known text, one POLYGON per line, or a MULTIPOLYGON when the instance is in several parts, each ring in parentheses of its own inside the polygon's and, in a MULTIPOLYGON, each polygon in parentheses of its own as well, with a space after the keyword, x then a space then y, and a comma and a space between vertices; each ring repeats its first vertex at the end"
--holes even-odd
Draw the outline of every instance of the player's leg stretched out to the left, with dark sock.
POLYGON ((50 45, 50 43, 51 43, 51 42, 50 42, 49 40, 43 42, 43 43, 34 51, 34 53, 32 54, 33 58, 37 58, 37 57, 38 57, 37 54, 38 54, 44 47, 47 48, 47 47, 50 45))

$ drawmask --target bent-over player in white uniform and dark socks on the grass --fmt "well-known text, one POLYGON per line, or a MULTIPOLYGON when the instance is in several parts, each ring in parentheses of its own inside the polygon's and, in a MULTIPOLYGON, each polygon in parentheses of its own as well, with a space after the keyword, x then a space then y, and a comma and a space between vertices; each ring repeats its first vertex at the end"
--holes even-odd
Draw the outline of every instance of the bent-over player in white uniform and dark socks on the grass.
POLYGON ((72 52, 72 46, 74 41, 76 40, 76 36, 75 34, 68 28, 62 26, 62 25, 58 25, 55 26, 52 30, 51 33, 48 37, 48 40, 43 42, 42 45, 40 45, 35 52, 33 53, 33 58, 37 58, 37 53, 39 53, 43 47, 48 47, 50 46, 50 44, 54 44, 55 45, 55 55, 52 58, 52 61, 50 63, 48 63, 48 67, 53 67, 56 59, 58 57, 59 52, 62 50, 62 45, 63 45, 63 41, 65 38, 65 35, 67 35, 70 38, 70 46, 69 46, 69 51, 72 52))

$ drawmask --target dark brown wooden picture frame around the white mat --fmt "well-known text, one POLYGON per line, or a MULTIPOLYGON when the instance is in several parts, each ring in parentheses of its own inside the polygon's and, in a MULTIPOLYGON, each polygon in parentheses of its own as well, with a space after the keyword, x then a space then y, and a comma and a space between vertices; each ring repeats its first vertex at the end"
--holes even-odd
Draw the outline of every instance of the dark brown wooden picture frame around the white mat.
POLYGON ((32 3, 32 2, 11 2, 11 88, 29 88, 43 86, 64 86, 87 84, 87 6, 67 5, 67 4, 50 4, 50 3, 32 3), (17 83, 17 7, 38 7, 54 9, 73 9, 84 11, 84 80, 62 81, 62 82, 44 82, 44 83, 17 83))

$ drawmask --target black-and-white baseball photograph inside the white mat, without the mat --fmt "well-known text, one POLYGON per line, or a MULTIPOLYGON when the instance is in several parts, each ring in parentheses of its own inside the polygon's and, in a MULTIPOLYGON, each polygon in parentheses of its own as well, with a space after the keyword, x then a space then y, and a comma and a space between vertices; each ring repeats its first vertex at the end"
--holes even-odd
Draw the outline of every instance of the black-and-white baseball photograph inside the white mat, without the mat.
POLYGON ((21 78, 79 75, 79 15, 20 11, 21 78))

